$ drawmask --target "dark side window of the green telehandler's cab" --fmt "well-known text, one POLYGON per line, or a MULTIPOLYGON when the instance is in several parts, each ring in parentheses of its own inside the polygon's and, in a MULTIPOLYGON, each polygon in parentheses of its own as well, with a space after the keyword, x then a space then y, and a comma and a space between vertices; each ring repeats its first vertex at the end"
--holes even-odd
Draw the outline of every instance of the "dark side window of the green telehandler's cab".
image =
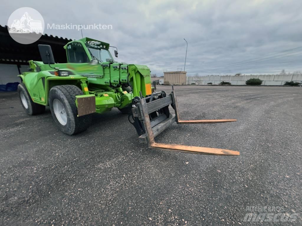
POLYGON ((72 42, 67 46, 67 57, 70 63, 89 63, 89 58, 79 42, 72 42))

